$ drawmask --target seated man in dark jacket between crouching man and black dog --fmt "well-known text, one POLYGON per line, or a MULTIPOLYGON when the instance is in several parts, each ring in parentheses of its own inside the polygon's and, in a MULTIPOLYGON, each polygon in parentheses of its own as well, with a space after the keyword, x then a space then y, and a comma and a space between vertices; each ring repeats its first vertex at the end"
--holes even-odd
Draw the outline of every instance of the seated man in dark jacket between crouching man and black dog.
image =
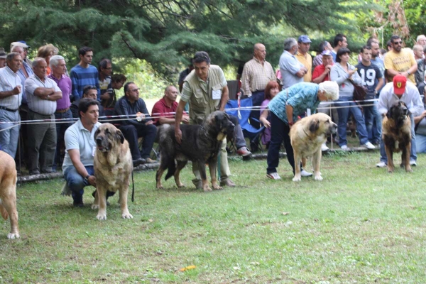
POLYGON ((139 98, 139 88, 134 82, 127 82, 124 85, 124 97, 117 101, 114 114, 126 119, 120 121, 120 130, 129 141, 133 166, 136 167, 141 163, 155 163, 155 160, 149 158, 149 154, 153 148, 157 128, 146 109, 145 102, 139 98), (142 151, 138 148, 139 137, 143 137, 142 151))

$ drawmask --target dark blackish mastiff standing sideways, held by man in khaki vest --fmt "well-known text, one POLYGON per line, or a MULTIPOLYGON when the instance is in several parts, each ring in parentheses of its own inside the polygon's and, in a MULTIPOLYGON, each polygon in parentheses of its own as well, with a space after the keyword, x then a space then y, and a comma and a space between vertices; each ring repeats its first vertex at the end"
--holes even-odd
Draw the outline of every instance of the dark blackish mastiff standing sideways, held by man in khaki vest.
POLYGON ((234 124, 229 120, 228 114, 224 111, 214 111, 202 125, 181 124, 180 130, 182 131, 181 144, 175 139, 174 127, 169 127, 160 136, 160 168, 155 177, 157 188, 163 187, 161 177, 166 169, 168 173, 165 175, 165 180, 173 175, 178 187, 185 186, 180 182, 179 174, 187 161, 191 160, 198 165, 204 191, 212 191, 207 182, 206 163, 209 164, 213 189, 222 189, 217 185, 217 155, 224 138, 234 133, 234 124))

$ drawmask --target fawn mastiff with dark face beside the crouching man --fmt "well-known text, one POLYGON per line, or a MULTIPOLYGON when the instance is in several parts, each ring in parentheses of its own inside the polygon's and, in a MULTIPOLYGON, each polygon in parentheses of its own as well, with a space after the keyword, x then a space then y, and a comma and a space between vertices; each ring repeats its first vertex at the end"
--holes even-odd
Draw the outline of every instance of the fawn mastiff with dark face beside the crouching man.
POLYGON ((133 218, 127 209, 127 192, 133 170, 129 143, 124 139, 123 133, 112 124, 99 126, 94 133, 94 140, 97 143, 93 161, 97 193, 92 209, 99 208, 97 219, 107 219, 107 191, 119 190, 121 217, 133 218))

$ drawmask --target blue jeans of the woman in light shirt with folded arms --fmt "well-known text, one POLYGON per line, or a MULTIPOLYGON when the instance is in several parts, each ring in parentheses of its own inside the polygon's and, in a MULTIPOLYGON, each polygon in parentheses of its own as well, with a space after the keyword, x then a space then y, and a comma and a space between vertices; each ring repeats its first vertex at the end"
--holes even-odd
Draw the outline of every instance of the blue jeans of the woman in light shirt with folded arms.
POLYGON ((366 129, 366 122, 359 106, 352 102, 351 97, 340 97, 337 102, 346 102, 337 104, 337 113, 339 114, 339 124, 337 125, 337 132, 339 133, 339 146, 344 146, 348 143, 346 140, 346 124, 348 122, 349 112, 354 115, 356 121, 356 130, 358 131, 359 143, 364 145, 368 142, 368 134, 366 129))

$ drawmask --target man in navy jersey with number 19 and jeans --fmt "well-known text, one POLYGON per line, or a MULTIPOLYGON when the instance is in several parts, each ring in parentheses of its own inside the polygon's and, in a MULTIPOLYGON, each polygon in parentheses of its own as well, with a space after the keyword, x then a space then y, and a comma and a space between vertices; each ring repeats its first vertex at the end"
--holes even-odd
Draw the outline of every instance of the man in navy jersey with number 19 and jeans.
POLYGON ((370 102, 362 102, 364 111, 368 140, 372 144, 379 144, 381 141, 381 114, 378 112, 377 102, 372 101, 378 96, 378 91, 383 86, 383 75, 379 67, 371 63, 371 47, 364 45, 361 48, 361 62, 355 66, 361 83, 367 88, 366 99, 370 102), (371 105, 373 104, 373 105, 371 105), (373 132, 373 121, 376 123, 376 131, 373 132))

